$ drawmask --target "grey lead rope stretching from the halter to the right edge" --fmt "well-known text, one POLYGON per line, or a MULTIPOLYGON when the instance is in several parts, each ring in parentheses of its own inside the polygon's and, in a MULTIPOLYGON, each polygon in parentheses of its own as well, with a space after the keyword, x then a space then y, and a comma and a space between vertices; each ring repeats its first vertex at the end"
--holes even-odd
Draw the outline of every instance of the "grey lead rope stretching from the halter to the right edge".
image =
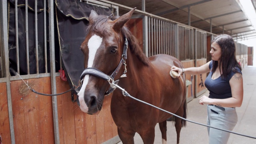
POLYGON ((152 107, 154 107, 154 108, 157 108, 158 110, 162 110, 162 111, 164 111, 164 112, 167 112, 168 114, 172 114, 172 115, 174 115, 174 116, 176 116, 176 117, 178 117, 178 118, 181 118, 182 120, 186 120, 186 121, 188 121, 188 122, 192 122, 192 123, 194 123, 194 124, 199 124, 199 125, 202 125, 202 126, 207 126, 207 127, 209 127, 209 128, 215 128, 215 129, 217 129, 217 130, 222 130, 222 131, 225 131, 225 132, 229 132, 229 133, 232 133, 232 134, 237 134, 237 135, 240 135, 240 136, 245 136, 245 137, 248 137, 248 138, 254 138, 254 139, 256 139, 256 137, 253 137, 253 136, 247 136, 247 135, 244 135, 244 134, 239 134, 239 133, 237 133, 237 132, 232 132, 232 131, 230 131, 230 130, 224 130, 224 129, 221 129, 221 128, 216 128, 216 127, 214 127, 214 126, 209 126, 209 125, 207 125, 207 124, 201 124, 201 123, 199 123, 199 122, 194 122, 194 121, 192 121, 192 120, 188 120, 188 119, 186 119, 186 118, 182 118, 181 116, 178 116, 178 115, 176 115, 176 114, 173 114, 173 113, 171 113, 171 112, 168 112, 168 111, 166 111, 166 110, 164 110, 164 109, 162 109, 162 108, 158 108, 157 106, 154 106, 154 105, 152 105, 152 104, 149 104, 149 103, 147 103, 147 102, 144 102, 144 101, 142 101, 142 100, 139 100, 138 98, 134 98, 133 96, 131 96, 128 92, 126 92, 123 88, 121 88, 120 86, 118 86, 117 84, 114 84, 114 83, 112 83, 114 86, 116 86, 116 88, 119 88, 120 90, 122 90, 122 94, 124 95, 124 96, 128 96, 128 97, 130 97, 130 98, 132 98, 132 99, 134 99, 134 100, 137 100, 137 101, 139 101, 139 102, 142 102, 142 103, 144 103, 144 104, 147 104, 147 105, 149 105, 149 106, 152 106, 152 107))

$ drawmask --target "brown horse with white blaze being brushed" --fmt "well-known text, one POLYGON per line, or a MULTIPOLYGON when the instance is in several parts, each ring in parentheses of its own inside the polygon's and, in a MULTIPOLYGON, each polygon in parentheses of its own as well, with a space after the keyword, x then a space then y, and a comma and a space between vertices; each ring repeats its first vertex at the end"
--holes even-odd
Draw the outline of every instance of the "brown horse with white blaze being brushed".
MULTIPOLYGON (((131 96, 186 118, 185 76, 174 79, 169 74, 171 66, 181 68, 182 64, 165 54, 150 58, 144 55, 126 26, 134 10, 119 18, 100 16, 92 10, 88 35, 81 45, 86 69, 78 93, 80 108, 88 114, 99 112, 104 96, 114 90, 110 84, 120 79, 118 86, 131 96), (127 77, 123 77, 124 73, 127 77)), ((118 89, 112 94, 111 114, 124 144, 134 144, 136 132, 145 144, 153 144, 157 123, 166 143, 166 119, 171 114, 124 96, 118 89)), ((186 121, 180 118, 174 121, 179 143, 180 130, 186 121)))

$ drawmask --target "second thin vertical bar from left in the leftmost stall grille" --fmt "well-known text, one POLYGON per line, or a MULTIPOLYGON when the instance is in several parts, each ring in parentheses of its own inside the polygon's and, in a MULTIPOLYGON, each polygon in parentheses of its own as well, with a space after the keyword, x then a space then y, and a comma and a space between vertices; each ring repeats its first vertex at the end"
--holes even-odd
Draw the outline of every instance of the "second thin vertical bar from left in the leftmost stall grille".
POLYGON ((27 74, 30 74, 29 70, 29 50, 28 50, 28 0, 25 1, 25 18, 26 18, 26 62, 27 62, 27 74))

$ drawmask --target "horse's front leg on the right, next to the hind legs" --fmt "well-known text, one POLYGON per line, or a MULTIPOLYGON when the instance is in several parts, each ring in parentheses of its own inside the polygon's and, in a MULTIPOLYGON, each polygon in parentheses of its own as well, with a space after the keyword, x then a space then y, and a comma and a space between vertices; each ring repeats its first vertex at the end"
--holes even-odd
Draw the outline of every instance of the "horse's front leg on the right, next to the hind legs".
POLYGON ((140 137, 144 144, 154 144, 155 140, 155 128, 146 128, 143 132, 140 132, 140 137))

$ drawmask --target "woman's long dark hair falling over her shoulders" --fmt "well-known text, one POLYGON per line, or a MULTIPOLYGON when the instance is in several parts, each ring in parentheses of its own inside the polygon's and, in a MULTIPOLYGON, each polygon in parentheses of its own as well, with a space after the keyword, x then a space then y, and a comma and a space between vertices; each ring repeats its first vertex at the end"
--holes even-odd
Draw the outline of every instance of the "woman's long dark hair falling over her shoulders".
POLYGON ((219 67, 220 70, 222 69, 221 78, 226 78, 231 71, 238 72, 238 68, 242 70, 241 66, 236 61, 236 45, 231 36, 221 34, 214 38, 212 42, 216 42, 221 48, 220 64, 218 64, 218 61, 212 60, 213 72, 219 67))

